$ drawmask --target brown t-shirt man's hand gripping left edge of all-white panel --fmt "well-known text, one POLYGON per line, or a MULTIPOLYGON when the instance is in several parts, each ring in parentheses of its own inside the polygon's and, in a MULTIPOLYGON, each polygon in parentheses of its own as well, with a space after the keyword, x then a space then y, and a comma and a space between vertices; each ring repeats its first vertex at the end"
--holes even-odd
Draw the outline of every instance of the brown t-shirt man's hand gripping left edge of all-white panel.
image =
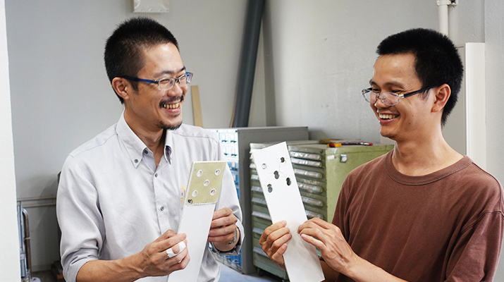
POLYGON ((262 250, 266 252, 266 255, 276 264, 279 264, 285 269, 285 262, 283 261, 283 254, 287 250, 287 242, 293 238, 290 235, 289 228, 286 228, 287 222, 278 221, 273 223, 268 228, 264 229, 264 232, 259 238, 259 244, 262 245, 262 250))

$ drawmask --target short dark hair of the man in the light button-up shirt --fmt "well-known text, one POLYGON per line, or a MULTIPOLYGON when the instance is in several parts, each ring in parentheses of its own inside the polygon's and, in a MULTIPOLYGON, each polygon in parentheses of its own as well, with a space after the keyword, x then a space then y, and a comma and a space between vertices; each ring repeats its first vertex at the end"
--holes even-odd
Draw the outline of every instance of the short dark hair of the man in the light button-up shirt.
MULTIPOLYGON (((166 27, 152 18, 125 20, 118 25, 105 44, 105 69, 110 82, 113 78, 123 75, 136 77, 144 67, 143 52, 158 44, 167 43, 173 43, 178 49, 177 39, 166 27)), ((131 85, 136 91, 137 82, 132 81, 131 85)), ((123 104, 123 98, 119 95, 117 97, 123 104)))

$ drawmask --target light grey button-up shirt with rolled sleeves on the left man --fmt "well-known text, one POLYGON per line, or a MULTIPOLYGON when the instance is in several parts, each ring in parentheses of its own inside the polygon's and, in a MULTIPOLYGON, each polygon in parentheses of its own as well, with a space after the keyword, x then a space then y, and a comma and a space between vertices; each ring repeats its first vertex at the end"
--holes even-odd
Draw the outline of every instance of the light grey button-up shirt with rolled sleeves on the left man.
MULTIPOLYGON (((118 123, 70 153, 61 171, 56 204, 66 281, 74 282, 80 267, 92 259, 128 257, 168 229, 178 230, 181 191, 188 185, 192 161, 224 157, 212 133, 191 125, 168 130, 165 144, 164 157, 156 167, 154 154, 121 115, 118 123)), ((241 240, 235 249, 222 254, 237 255, 244 232, 228 166, 216 210, 223 207, 233 209, 238 218, 241 240)), ((219 264, 206 250, 198 281, 218 281, 219 276, 219 264)))

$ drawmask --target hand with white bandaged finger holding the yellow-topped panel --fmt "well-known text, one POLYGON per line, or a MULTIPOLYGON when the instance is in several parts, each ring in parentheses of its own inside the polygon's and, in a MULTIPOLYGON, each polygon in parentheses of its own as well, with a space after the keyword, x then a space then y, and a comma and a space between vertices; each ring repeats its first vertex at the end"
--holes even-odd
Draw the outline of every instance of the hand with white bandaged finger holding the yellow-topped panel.
POLYGON ((186 237, 185 233, 177 234, 172 230, 168 230, 154 242, 145 246, 144 250, 138 254, 140 258, 139 267, 145 276, 165 276, 173 271, 185 269, 190 260, 188 248, 186 247, 180 252, 178 243, 183 241, 185 245, 188 245, 187 240, 185 240, 186 237), (171 247, 173 253, 180 253, 175 257, 168 258, 166 250, 171 247))

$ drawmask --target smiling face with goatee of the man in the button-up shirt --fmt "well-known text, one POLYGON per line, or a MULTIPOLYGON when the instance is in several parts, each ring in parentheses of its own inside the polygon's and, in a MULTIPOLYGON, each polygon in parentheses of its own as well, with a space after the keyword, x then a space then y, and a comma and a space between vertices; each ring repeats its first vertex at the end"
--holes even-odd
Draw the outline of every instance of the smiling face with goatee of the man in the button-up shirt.
MULTIPOLYGON (((159 80, 178 78, 185 74, 180 53, 174 44, 159 44, 144 51, 144 67, 137 78, 159 80)), ((130 85, 130 82, 125 82, 130 85)), ((182 123, 182 104, 188 85, 180 87, 178 82, 170 90, 159 90, 154 83, 138 82, 138 90, 127 86, 125 99, 125 120, 133 131, 159 132, 178 128, 182 123)))

